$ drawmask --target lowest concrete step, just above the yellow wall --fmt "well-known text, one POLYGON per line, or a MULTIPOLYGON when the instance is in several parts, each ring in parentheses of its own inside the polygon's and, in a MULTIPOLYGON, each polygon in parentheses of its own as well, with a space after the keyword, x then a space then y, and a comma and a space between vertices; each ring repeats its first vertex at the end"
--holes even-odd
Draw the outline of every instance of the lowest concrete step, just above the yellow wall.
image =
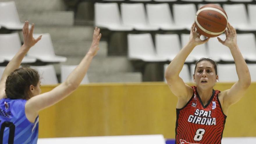
POLYGON ((90 83, 110 83, 110 82, 142 82, 142 74, 140 72, 124 72, 124 73, 90 73, 88 72, 90 83))

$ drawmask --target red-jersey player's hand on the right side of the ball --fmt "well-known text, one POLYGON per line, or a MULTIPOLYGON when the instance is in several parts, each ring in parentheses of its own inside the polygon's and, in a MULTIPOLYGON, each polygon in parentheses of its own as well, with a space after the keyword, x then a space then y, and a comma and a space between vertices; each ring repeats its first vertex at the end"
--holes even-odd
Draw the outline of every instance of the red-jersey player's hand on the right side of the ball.
POLYGON ((225 30, 225 34, 226 34, 226 40, 223 41, 218 37, 218 41, 229 48, 236 46, 237 32, 234 29, 234 27, 230 25, 230 23, 227 23, 227 29, 225 30))

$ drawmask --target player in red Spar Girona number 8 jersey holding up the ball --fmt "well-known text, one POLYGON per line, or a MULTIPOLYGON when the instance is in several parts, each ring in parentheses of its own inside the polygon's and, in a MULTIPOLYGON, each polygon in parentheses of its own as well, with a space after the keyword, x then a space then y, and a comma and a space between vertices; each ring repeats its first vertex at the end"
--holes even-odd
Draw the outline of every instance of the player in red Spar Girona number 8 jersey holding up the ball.
POLYGON ((222 92, 213 90, 218 81, 217 67, 208 58, 202 58, 196 63, 193 75, 196 86, 188 86, 179 77, 194 47, 209 40, 200 40, 195 24, 191 26, 189 42, 165 72, 170 90, 178 97, 176 144, 220 144, 229 107, 243 97, 250 85, 250 73, 237 46, 236 30, 229 23, 225 34, 226 40, 218 38, 218 41, 230 49, 239 78, 230 89, 222 92))

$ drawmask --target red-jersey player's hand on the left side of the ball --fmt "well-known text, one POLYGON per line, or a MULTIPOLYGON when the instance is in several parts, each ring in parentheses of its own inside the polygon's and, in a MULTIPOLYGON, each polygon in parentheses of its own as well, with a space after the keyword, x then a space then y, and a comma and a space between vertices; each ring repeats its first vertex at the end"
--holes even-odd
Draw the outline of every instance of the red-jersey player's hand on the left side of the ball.
POLYGON ((195 29, 195 23, 192 24, 191 29, 190 29, 190 36, 189 36, 189 41, 197 46, 197 45, 201 45, 204 44, 205 42, 207 42, 210 38, 207 38, 205 40, 201 40, 200 39, 201 34, 198 33, 198 31, 195 29))

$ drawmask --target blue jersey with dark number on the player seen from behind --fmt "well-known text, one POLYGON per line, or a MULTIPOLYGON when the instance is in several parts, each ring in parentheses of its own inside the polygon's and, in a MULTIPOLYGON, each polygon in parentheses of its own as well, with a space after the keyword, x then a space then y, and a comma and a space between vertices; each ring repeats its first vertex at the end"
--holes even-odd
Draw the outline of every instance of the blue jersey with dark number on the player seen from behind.
POLYGON ((38 117, 31 123, 25 114, 24 99, 0 99, 0 143, 36 144, 38 117))

